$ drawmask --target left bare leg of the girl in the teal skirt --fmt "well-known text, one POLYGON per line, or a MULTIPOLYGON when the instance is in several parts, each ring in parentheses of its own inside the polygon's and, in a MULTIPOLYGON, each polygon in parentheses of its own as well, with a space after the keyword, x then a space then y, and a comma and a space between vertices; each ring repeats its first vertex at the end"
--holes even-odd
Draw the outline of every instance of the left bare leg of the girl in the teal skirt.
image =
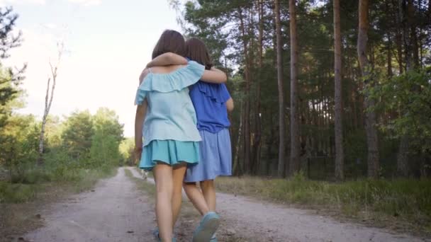
POLYGON ((154 168, 156 181, 156 217, 162 241, 172 241, 172 167, 157 163, 154 168))

